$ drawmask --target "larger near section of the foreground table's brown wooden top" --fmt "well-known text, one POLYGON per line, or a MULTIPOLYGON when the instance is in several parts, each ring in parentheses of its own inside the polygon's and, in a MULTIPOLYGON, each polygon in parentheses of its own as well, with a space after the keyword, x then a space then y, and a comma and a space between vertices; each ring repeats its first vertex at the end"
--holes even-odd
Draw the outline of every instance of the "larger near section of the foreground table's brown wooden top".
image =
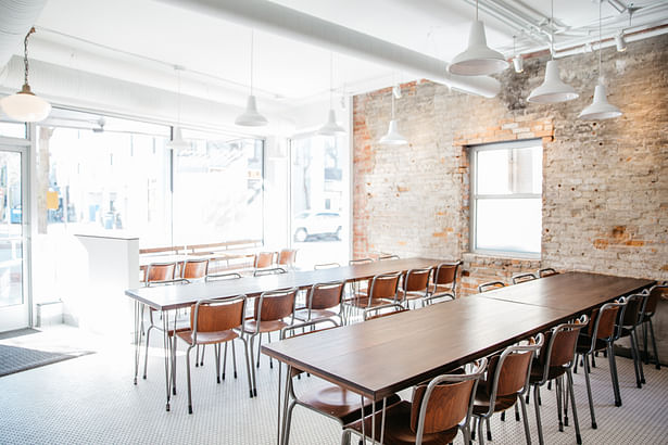
POLYGON ((467 296, 262 345, 262 352, 381 399, 527 335, 570 312, 467 296))

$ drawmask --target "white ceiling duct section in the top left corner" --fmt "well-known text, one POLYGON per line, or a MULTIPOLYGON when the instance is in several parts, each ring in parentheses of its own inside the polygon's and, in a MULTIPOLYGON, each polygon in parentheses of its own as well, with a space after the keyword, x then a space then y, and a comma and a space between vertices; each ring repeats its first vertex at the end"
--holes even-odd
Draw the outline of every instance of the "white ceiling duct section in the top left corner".
POLYGON ((0 67, 21 51, 47 0, 0 0, 0 67))

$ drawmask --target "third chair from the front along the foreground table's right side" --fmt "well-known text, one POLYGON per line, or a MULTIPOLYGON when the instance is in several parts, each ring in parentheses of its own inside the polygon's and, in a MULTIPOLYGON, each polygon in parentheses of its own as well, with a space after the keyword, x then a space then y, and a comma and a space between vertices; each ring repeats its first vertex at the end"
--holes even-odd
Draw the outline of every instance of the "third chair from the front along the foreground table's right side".
MULTIPOLYGON (((578 421, 578 411, 576 408, 575 390, 572 385, 572 367, 577 360, 576 345, 578 344, 578 335, 580 330, 587 327, 588 323, 589 317, 583 315, 575 322, 562 323, 547 331, 545 333, 545 344, 541 347, 538 353, 538 357, 531 365, 529 383, 533 386, 533 406, 535 409, 538 438, 541 445, 543 445, 544 438, 540 411, 540 387, 553 380, 556 382, 555 395, 559 431, 564 431, 564 421, 562 420, 562 394, 566 394, 566 391, 568 391, 572 407, 572 418, 576 427, 576 442, 578 444, 582 443, 580 423, 578 421), (564 376, 566 376, 566 387, 563 387, 564 376)), ((528 396, 529 393, 527 392, 527 397, 528 396)), ((564 405, 565 407, 568 405, 568 397, 564 397, 564 405)), ((567 416, 567 411, 565 412, 567 416)))

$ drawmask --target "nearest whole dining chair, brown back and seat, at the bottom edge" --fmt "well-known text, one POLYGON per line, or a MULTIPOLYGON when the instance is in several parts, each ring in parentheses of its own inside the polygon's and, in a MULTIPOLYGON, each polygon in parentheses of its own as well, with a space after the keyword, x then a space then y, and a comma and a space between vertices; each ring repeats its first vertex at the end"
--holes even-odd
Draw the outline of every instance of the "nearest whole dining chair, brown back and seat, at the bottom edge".
POLYGON ((349 444, 354 433, 363 437, 360 443, 374 438, 387 445, 448 444, 461 431, 468 444, 474 395, 487 358, 466 368, 466 373, 438 376, 415 386, 411 402, 402 400, 387 408, 385 423, 382 411, 377 411, 364 418, 364 429, 362 419, 345 425, 342 443, 349 444))

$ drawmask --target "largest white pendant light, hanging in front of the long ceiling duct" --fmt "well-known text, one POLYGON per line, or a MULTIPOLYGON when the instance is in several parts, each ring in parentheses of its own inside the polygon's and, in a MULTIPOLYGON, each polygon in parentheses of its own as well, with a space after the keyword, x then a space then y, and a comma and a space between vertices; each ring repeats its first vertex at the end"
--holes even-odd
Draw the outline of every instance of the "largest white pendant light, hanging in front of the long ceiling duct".
POLYGON ((478 0, 476 0, 476 21, 468 34, 468 48, 448 65, 451 74, 461 76, 487 76, 501 73, 508 67, 502 53, 487 46, 484 24, 478 20, 478 0))

